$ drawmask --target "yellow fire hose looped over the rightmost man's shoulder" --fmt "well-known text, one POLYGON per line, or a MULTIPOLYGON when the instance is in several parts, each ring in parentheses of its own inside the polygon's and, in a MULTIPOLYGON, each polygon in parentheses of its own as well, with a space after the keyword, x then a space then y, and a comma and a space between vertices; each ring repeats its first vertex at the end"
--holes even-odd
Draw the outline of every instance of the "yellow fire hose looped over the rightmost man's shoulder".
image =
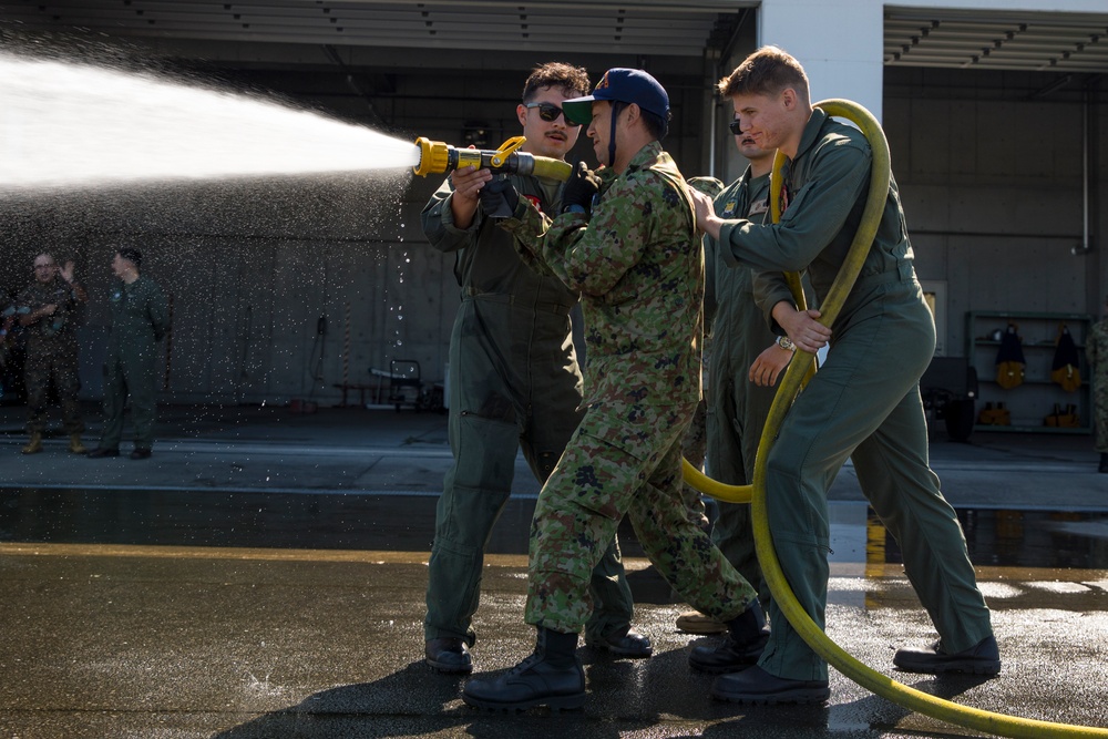
MULTIPOLYGON (((823 300, 823 305, 820 306, 820 322, 824 326, 830 326, 834 322, 847 295, 853 287, 862 263, 869 253, 870 245, 873 243, 878 225, 881 222, 885 198, 889 195, 891 168, 889 144, 885 141, 881 125, 868 110, 847 100, 824 100, 815 103, 815 106, 822 109, 829 115, 848 119, 858 125, 862 133, 865 134, 873 151, 870 193, 865 202, 861 225, 854 235, 854 240, 851 243, 850 252, 847 255, 843 266, 840 268, 839 276, 823 300)), ((779 176, 779 166, 782 162, 783 155, 778 152, 774 160, 774 177, 779 176)), ((774 186, 773 183, 774 179, 771 178, 771 193, 780 192, 780 187, 774 186)), ((772 215, 776 223, 780 217, 780 212, 772 203, 771 209, 774 211, 772 215)), ((798 305, 802 306, 803 304, 800 301, 803 300, 803 294, 799 290, 799 277, 791 278, 790 286, 794 295, 799 294, 798 305)), ((758 444, 752 485, 727 485, 720 483, 704 475, 699 470, 689 464, 688 461, 684 462, 686 482, 700 492, 730 503, 749 502, 751 504, 755 547, 758 553, 758 561, 761 564, 762 573, 767 585, 769 585, 770 593, 772 593, 773 601, 784 617, 789 619, 789 623, 792 624, 792 627, 797 629, 797 633, 808 643, 808 646, 812 650, 851 680, 882 698, 917 714, 1002 737, 1027 737, 1028 739, 1108 737, 1108 729, 1051 723, 1049 721, 994 714, 961 706, 910 688, 848 655, 804 612, 803 607, 797 601, 797 596, 792 593, 789 582, 781 571, 777 552, 773 550, 769 519, 766 514, 766 458, 789 408, 792 406, 792 401, 796 399, 800 388, 803 387, 806 378, 810 377, 813 362, 814 356, 811 352, 798 349, 781 380, 781 386, 770 407, 769 417, 762 430, 761 441, 758 444)))

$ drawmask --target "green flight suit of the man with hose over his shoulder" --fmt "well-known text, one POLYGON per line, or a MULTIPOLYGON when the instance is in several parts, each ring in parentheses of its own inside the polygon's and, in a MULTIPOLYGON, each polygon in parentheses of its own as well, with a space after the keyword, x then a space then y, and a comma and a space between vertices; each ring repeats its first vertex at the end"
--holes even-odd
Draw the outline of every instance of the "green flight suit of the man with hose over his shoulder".
MULTIPOLYGON (((872 155, 855 129, 815 110, 784 178, 788 207, 777 225, 729 220, 726 256, 759 271, 759 304, 791 294, 782 270, 808 269, 822 302, 858 228, 872 155)), ((992 635, 965 536, 927 463, 920 377, 934 353, 935 325, 912 265, 895 182, 853 289, 834 321, 827 360, 798 397, 767 460, 767 515, 781 567, 822 628, 827 608, 827 492, 853 460, 862 493, 899 542, 904 568, 947 653, 992 635)), ((771 320, 771 319, 770 319, 771 320)), ((825 680, 827 663, 771 605, 766 671, 825 680)))

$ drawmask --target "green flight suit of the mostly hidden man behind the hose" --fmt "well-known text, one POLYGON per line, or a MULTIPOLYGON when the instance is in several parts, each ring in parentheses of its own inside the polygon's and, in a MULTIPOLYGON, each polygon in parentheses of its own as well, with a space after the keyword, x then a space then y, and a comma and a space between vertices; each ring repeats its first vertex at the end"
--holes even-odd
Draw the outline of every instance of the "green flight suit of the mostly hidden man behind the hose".
MULTIPOLYGON (((768 211, 769 175, 742 174, 715 198, 721 218, 742 217, 761 223, 768 211)), ((777 388, 749 379, 750 366, 777 336, 755 302, 753 275, 731 267, 716 239, 705 237, 705 314, 711 330, 708 352, 707 472, 712 480, 746 485, 753 480, 755 456, 777 388)), ((727 560, 759 592, 763 605, 769 591, 755 554, 749 503, 717 503, 711 538, 727 560)))

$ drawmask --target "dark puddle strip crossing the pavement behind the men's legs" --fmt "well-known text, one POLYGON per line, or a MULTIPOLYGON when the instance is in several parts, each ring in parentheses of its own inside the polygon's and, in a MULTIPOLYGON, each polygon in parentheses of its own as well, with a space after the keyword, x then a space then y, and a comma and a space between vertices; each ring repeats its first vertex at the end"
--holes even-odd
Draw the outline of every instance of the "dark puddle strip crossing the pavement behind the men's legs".
MULTIPOLYGON (((437 495, 76 491, 0 487, 0 541, 163 546, 430 550, 437 495)), ((525 554, 533 499, 512 499, 491 554, 525 554)), ((832 503, 832 562, 897 564, 864 504, 832 503)), ((1108 513, 958 511, 978 566, 1108 568, 1108 513)), ((642 556, 630 526, 625 556, 642 556)))

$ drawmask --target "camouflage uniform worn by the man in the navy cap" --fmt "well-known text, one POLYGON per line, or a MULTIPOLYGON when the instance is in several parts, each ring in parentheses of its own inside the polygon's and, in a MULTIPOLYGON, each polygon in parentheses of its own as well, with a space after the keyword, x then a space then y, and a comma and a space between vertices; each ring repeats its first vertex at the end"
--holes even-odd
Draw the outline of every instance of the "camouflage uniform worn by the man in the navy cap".
POLYGON ((544 224, 521 202, 504 222, 525 258, 581 290, 588 348, 585 418, 532 524, 526 622, 581 630, 588 573, 624 515, 686 602, 730 620, 755 592, 681 497, 681 440, 700 397, 704 257, 693 205, 657 142, 623 174, 601 176, 591 218, 544 224))

